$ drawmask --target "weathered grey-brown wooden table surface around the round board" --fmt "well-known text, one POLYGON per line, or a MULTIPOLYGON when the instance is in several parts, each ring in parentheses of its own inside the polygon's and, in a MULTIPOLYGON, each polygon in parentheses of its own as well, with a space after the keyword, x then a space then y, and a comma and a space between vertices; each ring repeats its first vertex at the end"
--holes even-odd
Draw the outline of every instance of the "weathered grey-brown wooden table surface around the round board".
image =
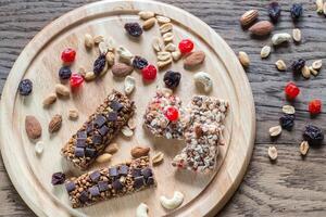
MULTIPOLYGON (((80 0, 0 0, 0 90, 7 76, 26 43, 58 16, 90 1, 80 0)), ((267 60, 261 60, 260 50, 271 39, 254 39, 239 26, 238 18, 247 10, 260 10, 261 20, 267 18, 262 0, 165 0, 197 15, 214 28, 234 49, 246 51, 251 58, 247 69, 256 108, 256 140, 250 166, 233 199, 221 216, 326 216, 326 148, 311 149, 303 159, 299 153, 302 129, 313 123, 326 129, 325 113, 311 118, 308 102, 314 98, 326 100, 326 67, 317 77, 305 80, 292 73, 279 73, 274 63, 286 63, 303 58, 309 63, 323 59, 326 64, 326 17, 315 13, 313 0, 301 0, 303 18, 296 25, 289 16, 292 1, 281 1, 283 16, 276 31, 291 33, 296 26, 303 39, 298 46, 273 49, 267 60), (296 80, 301 94, 294 102, 296 125, 271 141, 268 128, 278 124, 281 106, 286 103, 284 86, 296 80), (325 85, 323 85, 325 84, 325 85), (278 159, 271 164, 267 148, 278 149, 278 159)), ((5 126, 1 126, 5 127, 5 126)), ((324 142, 325 143, 325 142, 324 142)), ((241 144, 239 144, 241 145, 241 144)), ((14 157, 14 156, 13 156, 14 157)), ((12 186, 2 159, 0 161, 0 216, 35 216, 12 186)))

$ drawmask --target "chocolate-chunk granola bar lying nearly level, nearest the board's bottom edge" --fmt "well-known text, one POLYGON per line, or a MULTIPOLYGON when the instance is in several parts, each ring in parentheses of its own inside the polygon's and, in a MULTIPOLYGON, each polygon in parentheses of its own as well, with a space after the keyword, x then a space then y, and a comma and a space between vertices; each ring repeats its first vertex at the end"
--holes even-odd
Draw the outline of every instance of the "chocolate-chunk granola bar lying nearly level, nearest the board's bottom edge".
POLYGON ((65 188, 74 208, 100 201, 123 196, 156 184, 149 157, 143 156, 130 163, 89 171, 66 181, 65 188))

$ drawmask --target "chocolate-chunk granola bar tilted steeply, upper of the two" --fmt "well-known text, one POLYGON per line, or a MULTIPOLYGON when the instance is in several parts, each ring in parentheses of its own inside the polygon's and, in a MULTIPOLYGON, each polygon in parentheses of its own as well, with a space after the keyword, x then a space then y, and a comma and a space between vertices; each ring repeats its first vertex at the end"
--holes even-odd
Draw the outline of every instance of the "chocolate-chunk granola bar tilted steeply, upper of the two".
POLYGON ((134 112, 134 102, 113 90, 62 148, 61 154, 75 166, 86 169, 127 124, 134 112))

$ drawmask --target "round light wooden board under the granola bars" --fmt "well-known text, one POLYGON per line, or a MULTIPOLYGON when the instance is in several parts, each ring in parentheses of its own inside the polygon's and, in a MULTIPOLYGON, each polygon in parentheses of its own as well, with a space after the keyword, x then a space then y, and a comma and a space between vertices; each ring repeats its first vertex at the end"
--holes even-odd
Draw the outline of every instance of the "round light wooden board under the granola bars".
POLYGON ((134 216, 140 202, 149 205, 150 216, 213 216, 233 195, 249 164, 255 135, 255 114, 251 89, 237 56, 206 24, 180 9, 164 3, 113 0, 88 4, 63 15, 26 46, 15 62, 3 90, 1 126, 1 153, 7 170, 24 201, 39 216, 134 216), (100 80, 85 84, 68 100, 59 99, 48 110, 42 107, 41 102, 48 93, 53 92, 54 84, 60 82, 58 71, 61 66, 60 53, 64 48, 72 47, 77 50, 73 71, 77 71, 80 66, 92 68, 98 50, 86 51, 84 47, 86 33, 93 36, 109 35, 115 39, 116 44, 123 44, 133 53, 155 63, 151 41, 153 37, 160 36, 158 24, 145 31, 139 41, 130 40, 123 28, 126 22, 142 23, 137 15, 142 10, 172 18, 175 43, 181 38, 191 38, 196 43, 196 50, 205 52, 204 64, 196 71, 210 73, 214 80, 213 91, 210 94, 230 103, 224 133, 226 145, 221 146, 215 173, 200 175, 172 167, 171 159, 180 151, 184 143, 154 139, 142 129, 140 123, 148 101, 154 94, 156 86, 163 87, 162 77, 170 68, 183 73, 176 94, 181 98, 184 104, 188 104, 193 94, 202 93, 193 85, 195 71, 184 69, 180 60, 160 72, 156 81, 150 85, 143 84, 140 74, 134 72, 133 76, 138 84, 131 95, 136 101, 136 118, 139 123, 136 133, 130 140, 120 135, 116 139, 120 144, 118 153, 109 164, 93 165, 92 168, 129 158, 133 145, 150 145, 152 155, 162 151, 166 156, 162 165, 154 167, 158 187, 90 207, 73 209, 68 205, 63 187, 53 188, 50 184, 53 173, 67 170, 60 155, 60 149, 112 88, 123 90, 123 80, 113 78, 109 71, 100 80), (34 81, 33 94, 27 98, 22 98, 16 91, 18 81, 23 78, 34 81), (70 107, 78 108, 78 120, 68 120, 70 107), (35 154, 35 142, 29 141, 25 133, 25 116, 29 114, 35 115, 43 127, 41 140, 46 146, 41 156, 35 154), (47 127, 54 114, 63 115, 63 126, 59 133, 50 137, 47 127), (184 204, 173 212, 165 210, 159 197, 162 194, 171 196, 175 190, 185 194, 184 204))

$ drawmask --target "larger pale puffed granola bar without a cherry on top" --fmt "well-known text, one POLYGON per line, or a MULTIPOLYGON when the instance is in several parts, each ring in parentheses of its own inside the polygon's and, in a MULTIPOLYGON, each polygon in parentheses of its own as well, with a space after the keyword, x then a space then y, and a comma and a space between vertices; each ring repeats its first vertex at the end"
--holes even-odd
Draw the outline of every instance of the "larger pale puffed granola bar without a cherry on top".
POLYGON ((210 171, 214 169, 218 145, 224 144, 224 119, 228 103, 216 98, 196 95, 186 108, 186 146, 172 165, 179 168, 210 171))

